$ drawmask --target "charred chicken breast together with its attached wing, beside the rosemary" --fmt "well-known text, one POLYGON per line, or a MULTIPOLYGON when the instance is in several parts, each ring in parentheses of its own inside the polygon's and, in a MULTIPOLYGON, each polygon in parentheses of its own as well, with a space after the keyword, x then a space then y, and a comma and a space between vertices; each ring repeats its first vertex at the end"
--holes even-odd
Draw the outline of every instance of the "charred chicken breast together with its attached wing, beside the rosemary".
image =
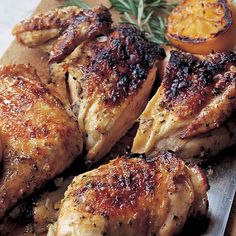
MULTIPOLYGON (((74 11, 74 8, 69 9, 74 11)), ((68 21, 64 11, 69 10, 54 10, 24 21, 15 27, 14 34, 19 42, 28 46, 45 42, 39 40, 40 37, 34 41, 35 31, 32 29, 37 29, 41 21, 43 23, 39 25, 42 27, 37 31, 38 34, 41 32, 41 37, 45 28, 58 29, 55 19, 64 22, 66 18, 65 22, 68 21), (30 43, 25 34, 27 37, 30 35, 30 43)), ((87 14, 87 11, 93 20, 86 18, 85 24, 81 20, 72 20, 62 36, 55 40, 50 51, 52 81, 48 86, 67 110, 72 107, 84 134, 87 159, 96 162, 128 131, 143 111, 156 76, 156 62, 163 59, 165 53, 162 48, 148 42, 134 26, 119 25, 108 33, 111 19, 104 7, 73 14, 78 14, 80 19, 80 15, 87 14), (103 13, 94 17, 98 15, 98 10, 103 13), (85 40, 89 37, 84 32, 90 31, 90 28, 103 36, 85 40)), ((95 34, 92 36, 94 38, 95 34)))

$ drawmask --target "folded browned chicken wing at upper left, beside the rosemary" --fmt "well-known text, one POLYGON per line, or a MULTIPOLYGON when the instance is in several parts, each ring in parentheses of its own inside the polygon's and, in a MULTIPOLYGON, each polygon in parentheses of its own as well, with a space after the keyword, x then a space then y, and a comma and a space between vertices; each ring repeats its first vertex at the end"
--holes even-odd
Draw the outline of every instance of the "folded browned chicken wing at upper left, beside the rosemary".
POLYGON ((13 29, 18 42, 35 47, 60 36, 52 45, 50 63, 62 61, 81 42, 109 32, 111 14, 106 7, 93 10, 66 7, 35 15, 13 29))

